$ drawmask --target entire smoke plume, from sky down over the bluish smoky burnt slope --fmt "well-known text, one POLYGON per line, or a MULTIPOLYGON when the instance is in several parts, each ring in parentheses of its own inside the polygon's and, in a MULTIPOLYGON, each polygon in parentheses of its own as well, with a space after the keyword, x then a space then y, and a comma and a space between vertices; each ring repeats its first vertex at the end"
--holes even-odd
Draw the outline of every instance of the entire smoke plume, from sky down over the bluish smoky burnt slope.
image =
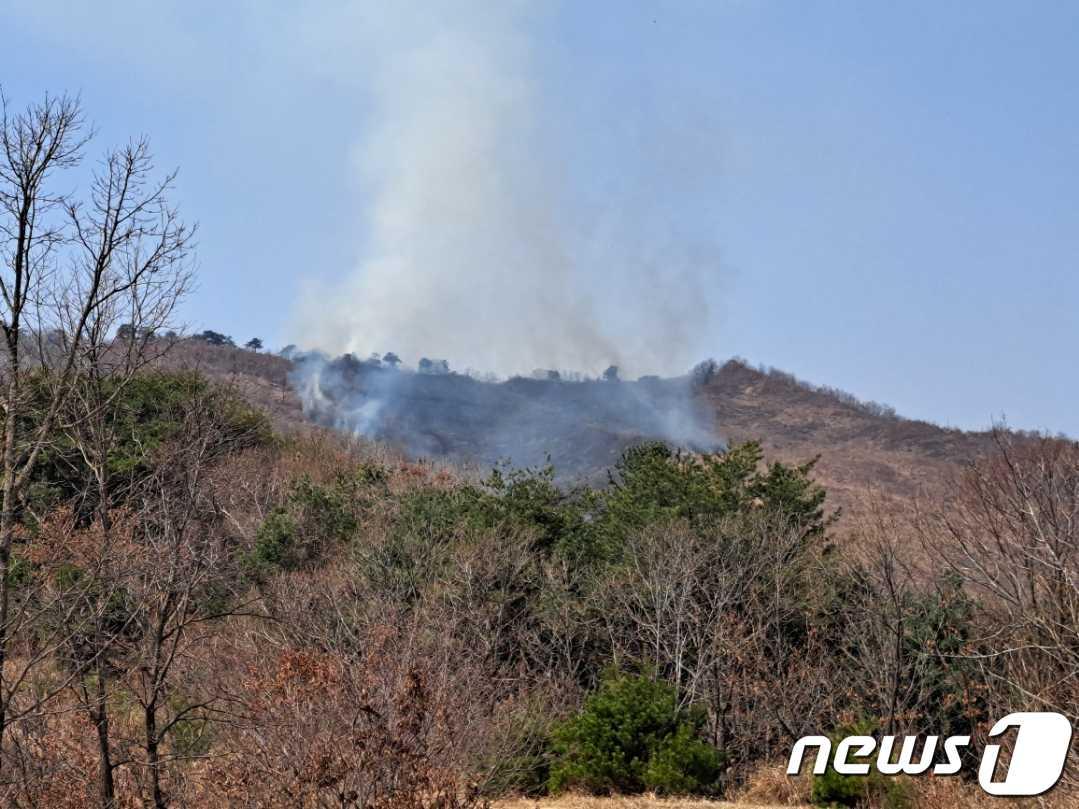
POLYGON ((593 118, 568 100, 565 54, 540 35, 556 6, 360 8, 337 37, 367 60, 363 259, 302 302, 308 414, 412 454, 549 456, 563 478, 601 475, 642 439, 716 449, 678 376, 710 337, 719 251, 695 156, 711 140, 636 104, 593 118), (620 379, 599 379, 610 366, 620 379))

